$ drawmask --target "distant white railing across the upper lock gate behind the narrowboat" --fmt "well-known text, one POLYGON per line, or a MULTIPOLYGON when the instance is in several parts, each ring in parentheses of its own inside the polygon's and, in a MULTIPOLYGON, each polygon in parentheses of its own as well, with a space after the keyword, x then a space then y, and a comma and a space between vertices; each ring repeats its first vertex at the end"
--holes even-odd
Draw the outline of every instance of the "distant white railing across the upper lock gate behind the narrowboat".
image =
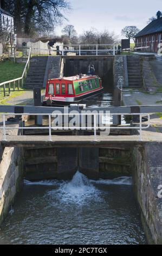
MULTIPOLYGON (((93 55, 98 56, 99 53, 111 53, 115 55, 115 52, 118 52, 118 45, 112 44, 103 44, 103 45, 64 45, 62 52, 62 56, 64 56, 64 53, 68 52, 74 52, 78 54, 79 56, 83 55, 82 53, 92 53, 93 55), (67 48, 67 49, 66 49, 67 48)), ((89 55, 87 54, 87 55, 89 55)))

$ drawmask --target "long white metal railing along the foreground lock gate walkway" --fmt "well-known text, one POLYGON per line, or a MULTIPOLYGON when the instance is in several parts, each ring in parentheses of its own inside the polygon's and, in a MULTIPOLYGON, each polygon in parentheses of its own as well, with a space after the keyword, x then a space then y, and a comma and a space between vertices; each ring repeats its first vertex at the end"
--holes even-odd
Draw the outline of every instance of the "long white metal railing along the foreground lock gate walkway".
MULTIPOLYGON (((132 129, 132 130, 134 130, 134 129, 136 129, 136 130, 139 130, 139 141, 142 141, 142 130, 143 129, 148 129, 148 127, 150 127, 150 114, 148 114, 148 113, 113 113, 113 114, 111 114, 111 113, 109 113, 109 114, 106 114, 106 113, 50 113, 50 114, 43 114, 43 116, 47 116, 48 117, 48 120, 49 120, 49 125, 48 126, 39 126, 39 127, 37 127, 37 126, 33 126, 33 127, 25 127, 25 126, 23 126, 23 127, 9 127, 9 126, 7 126, 6 125, 6 120, 5 120, 5 118, 7 117, 7 116, 11 116, 11 115, 36 115, 36 116, 38 116, 38 115, 41 115, 42 116, 42 114, 38 114, 38 113, 32 113, 32 114, 30 114, 30 113, 18 113, 18 114, 15 114, 15 113, 3 113, 2 114, 2 117, 3 117, 3 126, 0 126, 0 129, 2 129, 3 130, 3 141, 7 141, 7 135, 6 135, 6 131, 7 130, 30 130, 30 129, 48 129, 49 130, 49 141, 53 141, 53 139, 52 139, 52 136, 51 136, 51 131, 52 130, 94 130, 94 139, 93 139, 93 141, 98 141, 98 139, 97 139, 97 136, 96 136, 96 131, 97 130, 111 130, 111 129, 132 129), (92 121, 92 125, 88 125, 88 126, 80 126, 80 120, 81 119, 79 119, 79 125, 78 126, 56 126, 56 125, 53 125, 52 124, 52 122, 51 122, 51 120, 52 120, 52 118, 53 117, 56 117, 56 116, 61 116, 61 117, 65 117, 65 116, 68 116, 68 118, 72 118, 72 117, 74 117, 74 115, 75 116, 79 116, 79 118, 81 117, 81 118, 83 118, 83 116, 88 116, 88 115, 90 115, 91 117, 93 117, 94 119, 93 119, 93 121, 92 121), (137 116, 139 116, 140 117, 140 119, 139 119, 139 126, 111 126, 111 123, 110 123, 110 121, 109 121, 109 123, 102 123, 102 126, 100 126, 100 125, 98 125, 98 119, 97 118, 104 118, 105 120, 110 120, 110 117, 112 116, 112 115, 137 115, 137 116), (148 118, 148 124, 147 124, 147 126, 142 126, 142 117, 147 117, 148 118), (106 119, 106 118, 108 118, 108 119, 106 119)), ((101 119, 100 119, 101 120, 101 119)), ((102 119, 103 120, 103 119, 102 119)), ((68 121, 69 121, 69 119, 68 119, 68 121)), ((109 134, 109 133, 108 133, 109 134)), ((22 136, 22 138, 23 138, 23 136, 22 136)), ((118 136, 116 136, 116 138, 118 138, 118 136)), ((128 139, 130 139, 130 138, 128 138, 128 139)))

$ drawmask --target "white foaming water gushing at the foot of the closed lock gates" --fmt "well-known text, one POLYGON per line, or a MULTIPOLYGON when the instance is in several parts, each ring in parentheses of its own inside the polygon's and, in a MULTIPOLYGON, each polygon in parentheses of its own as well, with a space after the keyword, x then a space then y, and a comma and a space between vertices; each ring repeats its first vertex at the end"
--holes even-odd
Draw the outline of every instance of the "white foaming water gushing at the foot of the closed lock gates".
POLYGON ((58 204, 75 204, 83 205, 87 202, 101 202, 104 200, 101 197, 101 191, 95 187, 95 184, 104 185, 131 185, 131 177, 119 177, 113 180, 89 180, 86 175, 77 171, 70 181, 57 181, 57 180, 42 180, 31 182, 24 181, 25 185, 43 185, 43 186, 56 186, 54 189, 47 191, 44 195, 49 196, 54 202, 58 204))

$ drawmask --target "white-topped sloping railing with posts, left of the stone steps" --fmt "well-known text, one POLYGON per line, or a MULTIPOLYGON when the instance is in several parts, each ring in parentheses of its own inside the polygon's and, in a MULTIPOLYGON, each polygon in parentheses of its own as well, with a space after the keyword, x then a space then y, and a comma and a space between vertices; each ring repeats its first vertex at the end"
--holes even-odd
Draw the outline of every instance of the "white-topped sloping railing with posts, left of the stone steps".
POLYGON ((13 79, 13 80, 10 80, 10 81, 5 81, 3 83, 0 83, 0 87, 3 87, 3 94, 4 94, 4 97, 6 96, 6 86, 8 84, 8 92, 10 94, 11 92, 11 84, 13 84, 13 88, 12 90, 16 90, 16 82, 17 83, 17 89, 20 90, 20 83, 21 83, 21 86, 23 87, 23 83, 24 83, 24 79, 27 77, 27 70, 29 69, 29 65, 30 65, 30 52, 31 52, 31 48, 29 48, 29 55, 28 55, 28 59, 27 59, 27 63, 25 64, 25 68, 23 70, 23 74, 21 77, 18 77, 16 79, 13 79))

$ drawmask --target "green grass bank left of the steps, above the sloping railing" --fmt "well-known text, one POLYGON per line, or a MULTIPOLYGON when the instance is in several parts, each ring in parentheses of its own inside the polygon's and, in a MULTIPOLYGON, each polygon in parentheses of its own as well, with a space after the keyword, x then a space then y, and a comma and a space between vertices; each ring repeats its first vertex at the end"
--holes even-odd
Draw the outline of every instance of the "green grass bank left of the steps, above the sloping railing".
POLYGON ((5 61, 0 62, 0 83, 22 76, 25 64, 5 61))

